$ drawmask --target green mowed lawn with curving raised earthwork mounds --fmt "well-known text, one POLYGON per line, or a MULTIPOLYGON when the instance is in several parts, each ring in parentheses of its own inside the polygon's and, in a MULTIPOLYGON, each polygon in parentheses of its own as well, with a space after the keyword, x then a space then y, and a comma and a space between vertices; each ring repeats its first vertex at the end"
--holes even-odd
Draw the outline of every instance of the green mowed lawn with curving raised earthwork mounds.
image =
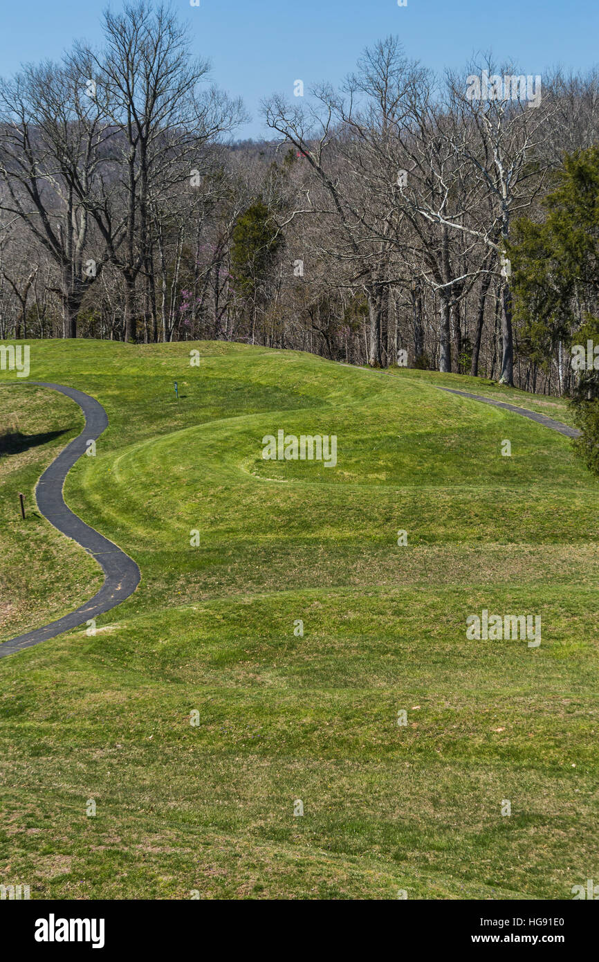
MULTIPOLYGON (((599 486, 568 439, 437 385, 567 421, 564 402, 222 342, 31 350, 30 379, 108 412, 65 498, 142 581, 95 635, 0 660, 0 882, 571 899, 597 878, 599 486), (280 429, 337 435, 337 467, 263 460, 280 429), (468 641, 484 608, 539 615, 541 645, 468 641)), ((14 382, 0 641, 101 583, 33 495, 81 412, 14 382)))

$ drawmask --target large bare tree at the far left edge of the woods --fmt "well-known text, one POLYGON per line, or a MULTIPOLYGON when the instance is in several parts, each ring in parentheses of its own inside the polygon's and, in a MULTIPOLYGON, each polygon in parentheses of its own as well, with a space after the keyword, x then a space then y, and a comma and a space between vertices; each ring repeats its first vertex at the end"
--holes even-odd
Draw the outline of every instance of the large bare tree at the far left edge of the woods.
POLYGON ((73 63, 28 66, 0 84, 0 209, 17 215, 58 267, 64 336, 101 270, 89 255, 89 209, 109 138, 106 114, 73 63))

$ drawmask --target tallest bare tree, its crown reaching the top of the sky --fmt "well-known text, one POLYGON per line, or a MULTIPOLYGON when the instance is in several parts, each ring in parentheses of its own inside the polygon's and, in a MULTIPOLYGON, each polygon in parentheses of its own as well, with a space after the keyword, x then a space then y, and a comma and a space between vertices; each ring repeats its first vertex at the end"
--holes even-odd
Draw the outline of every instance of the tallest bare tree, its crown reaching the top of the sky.
POLYGON ((137 340, 137 277, 152 276, 150 205, 174 184, 190 183, 202 148, 243 119, 240 100, 202 92, 208 61, 193 59, 187 27, 163 5, 145 0, 104 14, 105 49, 85 54, 96 89, 105 91, 112 125, 112 160, 122 201, 96 214, 112 263, 125 283, 125 339, 137 340))

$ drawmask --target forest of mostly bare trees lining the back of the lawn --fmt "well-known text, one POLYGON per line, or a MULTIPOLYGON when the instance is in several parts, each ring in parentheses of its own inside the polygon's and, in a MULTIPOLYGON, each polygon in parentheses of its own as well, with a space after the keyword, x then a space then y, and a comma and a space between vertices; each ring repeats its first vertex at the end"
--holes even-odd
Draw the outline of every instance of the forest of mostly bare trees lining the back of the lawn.
POLYGON ((221 339, 577 390, 596 72, 531 100, 510 63, 438 77, 390 37, 338 89, 291 78, 272 136, 236 141, 243 103, 174 13, 103 26, 0 82, 1 339, 221 339), (479 76, 504 92, 473 98, 479 76))

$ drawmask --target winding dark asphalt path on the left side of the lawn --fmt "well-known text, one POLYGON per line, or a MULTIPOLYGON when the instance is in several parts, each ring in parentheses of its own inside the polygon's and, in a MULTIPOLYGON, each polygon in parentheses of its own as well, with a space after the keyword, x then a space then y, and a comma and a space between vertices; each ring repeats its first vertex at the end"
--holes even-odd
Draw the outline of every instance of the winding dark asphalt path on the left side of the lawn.
POLYGON ((53 391, 66 394, 79 404, 84 413, 86 426, 77 438, 66 445, 50 467, 45 469, 37 482, 36 500, 43 517, 67 538, 72 538, 74 542, 81 544, 98 562, 105 577, 100 591, 80 608, 56 621, 44 624, 42 628, 36 628, 8 642, 0 643, 0 658, 14 651, 20 651, 22 648, 29 648, 39 645, 40 642, 46 642, 50 638, 56 638, 69 628, 76 628, 89 619, 103 615, 129 595, 133 595, 141 580, 141 573, 133 558, 73 514, 70 508, 66 507, 62 497, 64 479, 75 462, 86 453, 87 442, 96 441, 108 427, 106 411, 94 397, 90 397, 83 391, 65 388, 61 384, 49 384, 46 381, 25 383, 37 384, 40 388, 52 388, 53 391))

